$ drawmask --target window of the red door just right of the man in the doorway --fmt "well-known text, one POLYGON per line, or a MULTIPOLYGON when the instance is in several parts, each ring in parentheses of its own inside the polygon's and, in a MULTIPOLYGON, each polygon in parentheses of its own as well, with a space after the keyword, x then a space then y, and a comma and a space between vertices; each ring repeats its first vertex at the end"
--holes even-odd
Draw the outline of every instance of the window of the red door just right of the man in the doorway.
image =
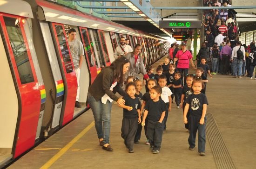
POLYGON ((82 34, 82 38, 85 46, 84 49, 85 49, 86 55, 88 56, 90 67, 92 67, 92 66, 95 66, 94 56, 91 50, 93 48, 93 43, 90 43, 87 33, 88 32, 86 29, 81 29, 81 34, 82 34))

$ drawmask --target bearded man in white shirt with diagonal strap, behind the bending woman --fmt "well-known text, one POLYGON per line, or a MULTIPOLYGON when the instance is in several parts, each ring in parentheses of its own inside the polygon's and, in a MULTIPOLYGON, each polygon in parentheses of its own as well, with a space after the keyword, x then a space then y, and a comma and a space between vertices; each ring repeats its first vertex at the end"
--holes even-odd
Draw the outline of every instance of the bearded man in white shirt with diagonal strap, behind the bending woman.
POLYGON ((120 45, 115 48, 114 57, 115 57, 115 59, 117 59, 117 58, 121 57, 122 55, 125 56, 129 52, 132 52, 132 51, 133 51, 132 47, 125 43, 125 38, 121 37, 120 45))

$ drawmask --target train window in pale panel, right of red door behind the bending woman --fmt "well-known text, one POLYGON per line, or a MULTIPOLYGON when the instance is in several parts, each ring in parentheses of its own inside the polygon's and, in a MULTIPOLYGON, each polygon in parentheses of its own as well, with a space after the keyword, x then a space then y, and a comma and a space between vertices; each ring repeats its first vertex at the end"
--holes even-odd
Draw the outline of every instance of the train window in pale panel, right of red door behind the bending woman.
POLYGON ((102 51, 101 51, 101 44, 100 44, 100 39, 98 36, 98 33, 96 30, 94 29, 90 29, 90 34, 92 35, 92 41, 94 42, 93 47, 94 47, 94 55, 96 57, 95 61, 97 61, 97 64, 99 67, 104 67, 105 66, 105 60, 104 57, 102 55, 102 51))

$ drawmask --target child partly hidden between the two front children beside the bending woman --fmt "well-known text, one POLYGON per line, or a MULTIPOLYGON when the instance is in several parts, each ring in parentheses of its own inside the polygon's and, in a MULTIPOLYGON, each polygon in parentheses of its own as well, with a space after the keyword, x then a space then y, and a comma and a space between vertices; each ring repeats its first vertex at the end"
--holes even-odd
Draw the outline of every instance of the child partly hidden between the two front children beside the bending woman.
MULTIPOLYGON (((142 104, 142 94, 141 94, 141 89, 142 89, 142 81, 140 80, 136 80, 135 81, 135 85, 136 85, 136 93, 135 93, 135 97, 137 97, 142 104)), ((142 116, 142 112, 140 114, 140 117, 142 116)), ((141 130, 142 130, 142 125, 138 124, 138 129, 137 132, 135 134, 135 138, 134 138, 134 143, 139 143, 139 140, 141 139, 141 130)))

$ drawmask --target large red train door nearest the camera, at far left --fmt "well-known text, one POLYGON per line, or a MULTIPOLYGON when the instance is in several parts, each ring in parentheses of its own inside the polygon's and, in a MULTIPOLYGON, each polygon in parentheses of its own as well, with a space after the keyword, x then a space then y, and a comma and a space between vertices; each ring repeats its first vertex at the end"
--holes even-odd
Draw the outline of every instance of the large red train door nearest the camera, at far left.
POLYGON ((40 94, 42 88, 38 82, 28 45, 30 39, 27 39, 24 30, 25 22, 24 18, 0 13, 0 25, 6 44, 5 50, 9 56, 14 83, 17 84, 18 89, 19 113, 13 143, 14 158, 34 146, 42 101, 40 94))

